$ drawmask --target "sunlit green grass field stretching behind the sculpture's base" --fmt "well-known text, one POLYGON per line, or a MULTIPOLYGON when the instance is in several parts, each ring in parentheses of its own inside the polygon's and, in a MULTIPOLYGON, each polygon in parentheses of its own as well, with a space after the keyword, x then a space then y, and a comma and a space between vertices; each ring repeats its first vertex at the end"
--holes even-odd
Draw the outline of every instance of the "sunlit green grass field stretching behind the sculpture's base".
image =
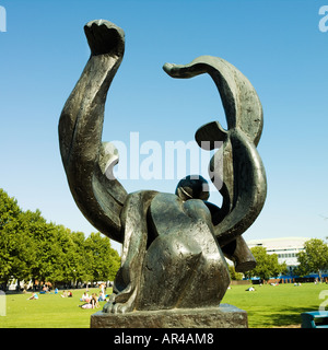
MULTIPOLYGON (((255 285, 256 291, 246 292, 248 285, 233 285, 226 291, 222 303, 245 310, 249 328, 289 327, 301 324, 301 313, 318 310, 324 302, 321 291, 328 284, 304 283, 255 285)), ((80 298, 84 290, 72 290, 73 298, 60 294, 39 294, 38 300, 26 300, 27 294, 5 296, 5 316, 0 316, 0 328, 89 328, 90 316, 98 310, 82 310, 80 298)), ((98 289, 90 290, 98 293, 98 289)), ((107 293, 110 292, 107 289, 107 293)))

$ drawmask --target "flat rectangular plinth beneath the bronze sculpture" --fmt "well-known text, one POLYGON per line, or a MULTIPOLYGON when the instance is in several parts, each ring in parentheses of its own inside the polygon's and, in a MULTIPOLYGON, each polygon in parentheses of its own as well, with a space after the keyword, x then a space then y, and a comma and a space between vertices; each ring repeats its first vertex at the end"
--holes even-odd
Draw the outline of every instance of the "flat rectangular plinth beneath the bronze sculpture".
POLYGON ((247 313, 230 304, 219 307, 136 311, 127 314, 97 312, 91 328, 247 328, 247 313))

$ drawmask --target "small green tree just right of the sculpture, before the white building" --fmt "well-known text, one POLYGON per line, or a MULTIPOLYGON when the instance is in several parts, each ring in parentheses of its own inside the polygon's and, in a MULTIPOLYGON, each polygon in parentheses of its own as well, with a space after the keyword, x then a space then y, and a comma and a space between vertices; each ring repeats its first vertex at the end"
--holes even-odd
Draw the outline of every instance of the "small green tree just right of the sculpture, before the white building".
POLYGON ((245 273, 248 278, 259 277, 262 280, 268 280, 285 272, 286 264, 279 264, 277 254, 268 254, 265 247, 253 247, 250 250, 257 265, 255 269, 245 273))

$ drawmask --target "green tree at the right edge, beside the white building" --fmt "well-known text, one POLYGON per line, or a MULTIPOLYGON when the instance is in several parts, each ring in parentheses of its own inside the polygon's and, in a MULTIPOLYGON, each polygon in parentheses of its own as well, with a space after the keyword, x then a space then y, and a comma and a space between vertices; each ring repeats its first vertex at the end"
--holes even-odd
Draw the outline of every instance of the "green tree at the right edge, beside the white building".
POLYGON ((297 254, 300 265, 295 273, 305 276, 311 272, 318 272, 321 280, 323 270, 328 269, 328 245, 318 238, 312 238, 304 243, 304 252, 297 254))

